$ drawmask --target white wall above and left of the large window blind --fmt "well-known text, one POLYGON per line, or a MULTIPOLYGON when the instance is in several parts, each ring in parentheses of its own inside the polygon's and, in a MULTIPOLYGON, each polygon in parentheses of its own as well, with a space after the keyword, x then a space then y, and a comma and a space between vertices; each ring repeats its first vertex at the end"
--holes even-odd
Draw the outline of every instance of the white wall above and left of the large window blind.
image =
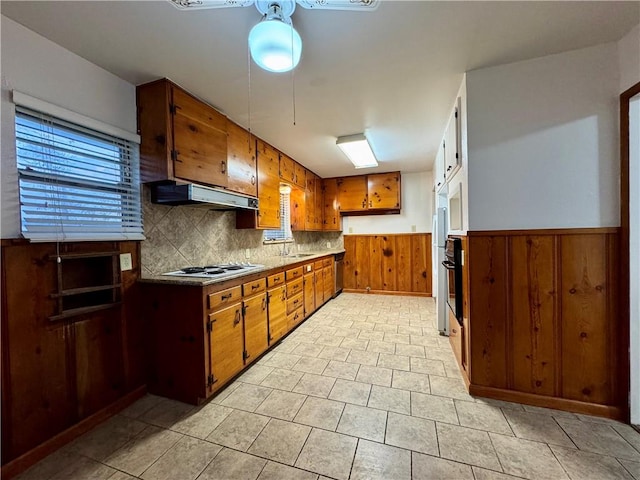
POLYGON ((14 106, 18 90, 136 132, 135 86, 2 16, 2 238, 20 236, 14 106))

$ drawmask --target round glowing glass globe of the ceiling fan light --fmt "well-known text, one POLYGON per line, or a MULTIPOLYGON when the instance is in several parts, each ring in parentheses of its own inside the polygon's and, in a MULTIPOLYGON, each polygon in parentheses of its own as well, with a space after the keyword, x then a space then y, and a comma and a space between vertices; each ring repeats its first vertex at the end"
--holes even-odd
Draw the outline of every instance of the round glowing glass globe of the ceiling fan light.
POLYGON ((302 39, 292 25, 277 19, 264 20, 249 32, 249 51, 260 68, 288 72, 300 62, 302 39))

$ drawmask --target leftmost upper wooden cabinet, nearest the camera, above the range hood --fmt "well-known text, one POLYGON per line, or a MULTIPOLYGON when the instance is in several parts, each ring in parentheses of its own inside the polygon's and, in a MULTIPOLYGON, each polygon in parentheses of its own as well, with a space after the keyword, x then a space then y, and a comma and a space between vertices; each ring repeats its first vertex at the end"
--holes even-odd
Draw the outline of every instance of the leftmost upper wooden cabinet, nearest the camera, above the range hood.
POLYGON ((226 187, 227 119, 167 79, 137 87, 143 182, 226 187))

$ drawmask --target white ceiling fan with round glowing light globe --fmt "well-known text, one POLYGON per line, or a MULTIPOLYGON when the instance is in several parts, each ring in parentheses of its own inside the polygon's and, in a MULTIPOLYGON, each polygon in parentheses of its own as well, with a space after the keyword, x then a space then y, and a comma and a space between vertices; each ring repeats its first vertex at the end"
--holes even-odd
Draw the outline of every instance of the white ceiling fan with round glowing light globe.
POLYGON ((249 32, 251 58, 269 72, 288 72, 300 61, 302 39, 293 28, 296 3, 309 10, 373 11, 380 0, 169 0, 180 10, 248 7, 255 4, 262 15, 249 32))

